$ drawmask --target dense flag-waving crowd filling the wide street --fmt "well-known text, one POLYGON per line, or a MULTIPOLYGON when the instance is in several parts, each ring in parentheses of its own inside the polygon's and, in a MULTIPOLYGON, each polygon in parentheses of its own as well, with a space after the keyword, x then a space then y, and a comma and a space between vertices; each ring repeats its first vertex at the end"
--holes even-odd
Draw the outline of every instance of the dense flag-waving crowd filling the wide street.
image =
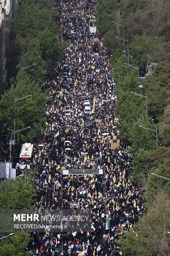
POLYGON ((60 40, 68 46, 56 67, 47 69, 43 83, 50 94, 47 128, 34 139, 32 167, 37 166, 38 174, 33 206, 39 212, 62 206, 91 209, 91 229, 32 232, 26 251, 40 256, 122 255, 119 237, 133 230, 146 210, 139 185, 128 178, 133 171, 129 143, 122 140, 111 149, 107 139, 108 134, 117 136, 119 123, 109 55, 102 36, 89 30, 90 20, 97 19, 92 0, 55 0, 55 7, 60 40), (66 140, 71 141, 68 151, 66 140), (62 175, 64 169, 103 169, 103 175, 62 175))

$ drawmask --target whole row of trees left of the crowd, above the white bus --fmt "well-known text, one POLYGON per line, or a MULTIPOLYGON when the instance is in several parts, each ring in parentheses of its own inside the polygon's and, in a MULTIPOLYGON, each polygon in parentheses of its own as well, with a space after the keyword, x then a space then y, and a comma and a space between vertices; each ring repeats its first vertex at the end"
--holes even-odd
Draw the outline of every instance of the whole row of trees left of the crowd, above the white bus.
POLYGON ((59 42, 55 12, 53 0, 23 0, 11 22, 13 43, 7 49, 11 87, 0 102, 0 119, 5 129, 14 129, 15 99, 32 95, 16 102, 16 130, 31 126, 18 133, 18 142, 32 142, 45 128, 42 113, 48 101, 48 90, 45 92, 41 81, 46 67, 55 66, 67 45, 59 42), (23 67, 28 68, 21 70, 23 67))

